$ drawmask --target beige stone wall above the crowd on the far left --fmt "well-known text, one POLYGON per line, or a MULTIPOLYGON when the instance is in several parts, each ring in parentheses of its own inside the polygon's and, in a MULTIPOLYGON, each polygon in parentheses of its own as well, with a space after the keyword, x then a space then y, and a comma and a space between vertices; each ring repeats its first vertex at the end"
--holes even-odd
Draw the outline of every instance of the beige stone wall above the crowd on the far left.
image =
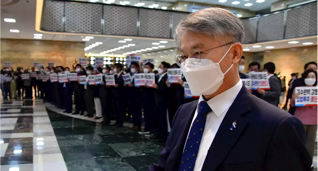
POLYGON ((84 57, 85 43, 47 40, 0 39, 0 63, 11 62, 13 69, 18 66, 31 68, 33 62, 47 66, 68 66, 72 69, 75 59, 84 57))

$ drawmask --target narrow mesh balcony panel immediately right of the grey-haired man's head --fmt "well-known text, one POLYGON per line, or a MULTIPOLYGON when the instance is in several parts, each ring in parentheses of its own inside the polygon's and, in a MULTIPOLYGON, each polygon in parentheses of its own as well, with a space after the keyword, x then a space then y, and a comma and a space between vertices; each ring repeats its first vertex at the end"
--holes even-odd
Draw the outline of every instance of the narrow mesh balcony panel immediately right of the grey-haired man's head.
POLYGON ((258 18, 242 19, 242 22, 244 24, 244 32, 245 32, 245 38, 243 40, 243 43, 256 42, 257 20, 258 18))

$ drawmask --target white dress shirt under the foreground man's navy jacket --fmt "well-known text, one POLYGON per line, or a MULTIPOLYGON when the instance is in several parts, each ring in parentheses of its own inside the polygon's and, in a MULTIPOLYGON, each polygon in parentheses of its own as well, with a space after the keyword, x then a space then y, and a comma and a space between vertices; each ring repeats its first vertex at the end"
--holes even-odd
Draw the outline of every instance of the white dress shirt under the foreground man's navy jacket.
MULTIPOLYGON (((239 94, 239 91, 241 90, 242 86, 243 83, 240 79, 236 85, 207 101, 212 111, 209 112, 206 116, 205 128, 193 171, 201 171, 205 157, 208 154, 208 150, 212 144, 212 141, 216 133, 218 132, 218 128, 220 127, 226 112, 229 110, 236 96, 239 94)), ((200 103, 201 101, 204 101, 202 95, 200 96, 198 103, 200 103)), ((192 124, 193 121, 196 119, 197 114, 198 113, 196 110, 196 112, 194 113, 194 117, 192 119, 192 124)))

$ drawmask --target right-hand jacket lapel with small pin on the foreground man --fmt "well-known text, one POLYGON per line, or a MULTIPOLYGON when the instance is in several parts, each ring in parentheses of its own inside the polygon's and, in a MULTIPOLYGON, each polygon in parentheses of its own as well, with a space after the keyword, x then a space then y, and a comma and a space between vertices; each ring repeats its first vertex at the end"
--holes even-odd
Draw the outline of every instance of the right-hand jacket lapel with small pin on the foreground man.
POLYGON ((224 160, 247 126, 248 120, 244 116, 250 110, 250 93, 243 86, 218 128, 218 132, 206 155, 202 170, 213 171, 224 160), (236 128, 230 130, 234 121, 237 123, 236 128))

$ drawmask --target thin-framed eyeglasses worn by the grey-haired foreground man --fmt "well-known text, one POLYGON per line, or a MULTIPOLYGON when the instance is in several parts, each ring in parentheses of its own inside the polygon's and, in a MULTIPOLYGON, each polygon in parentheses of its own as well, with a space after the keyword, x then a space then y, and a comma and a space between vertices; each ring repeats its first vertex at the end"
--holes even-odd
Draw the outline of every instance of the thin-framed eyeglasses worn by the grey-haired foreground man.
MULTIPOLYGON (((222 47, 222 46, 229 45, 229 44, 234 44, 234 43, 227 43, 227 44, 223 44, 223 45, 218 46, 218 47, 222 47)), ((209 50, 212 50, 212 49, 215 49, 218 47, 214 47, 214 48, 211 48, 211 49, 208 49, 205 51, 209 51, 209 50)), ((201 61, 201 53, 203 53, 205 51, 198 51, 198 50, 194 49, 194 50, 189 51, 188 55, 176 54, 176 58, 175 58, 176 64, 179 65, 180 67, 182 67, 185 64, 186 59, 189 59, 193 64, 197 64, 201 61), (198 60, 194 60, 194 59, 200 59, 200 60, 198 61, 198 60)))

